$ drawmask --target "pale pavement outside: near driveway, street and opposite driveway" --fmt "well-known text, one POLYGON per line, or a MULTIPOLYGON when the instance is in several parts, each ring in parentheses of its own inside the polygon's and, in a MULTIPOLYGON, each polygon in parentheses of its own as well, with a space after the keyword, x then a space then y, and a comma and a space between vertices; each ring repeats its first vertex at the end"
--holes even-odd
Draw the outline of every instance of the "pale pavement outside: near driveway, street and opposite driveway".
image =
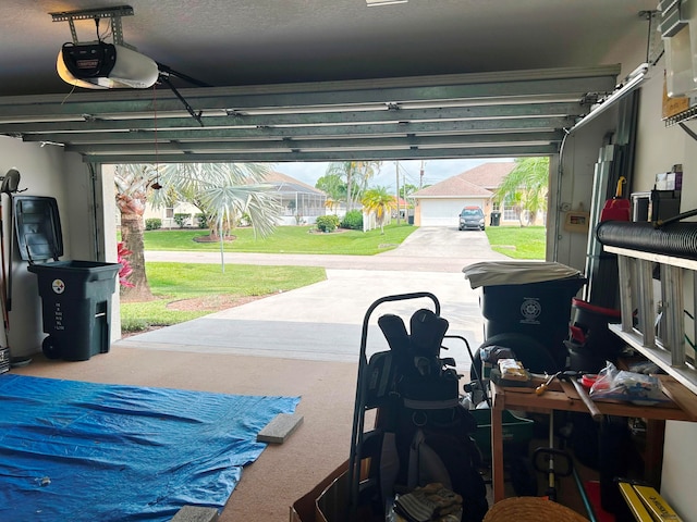
MULTIPOLYGON (((449 335, 465 337, 474 349, 482 341, 478 291, 462 269, 470 263, 509 259, 493 252, 485 233, 452 227, 416 229, 399 248, 378 256, 298 256, 225 253, 225 264, 295 264, 327 269, 327 281, 247 304, 119 340, 114 347, 239 353, 258 357, 356 362, 366 353, 388 349, 377 326, 383 313, 406 323, 429 298, 380 304, 363 324, 372 303, 386 296, 430 293, 450 322, 449 335)), ((216 252, 146 252, 147 261, 220 263, 216 252)), ((469 366, 460 339, 445 343, 458 368, 469 366)))

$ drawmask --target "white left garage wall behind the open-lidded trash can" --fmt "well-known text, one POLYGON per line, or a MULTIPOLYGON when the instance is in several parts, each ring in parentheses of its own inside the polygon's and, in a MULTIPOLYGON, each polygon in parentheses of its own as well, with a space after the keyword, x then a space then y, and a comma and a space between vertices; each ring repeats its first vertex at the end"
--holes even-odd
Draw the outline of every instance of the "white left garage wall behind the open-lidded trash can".
MULTIPOLYGON (((91 177, 80 156, 65 153, 61 147, 40 147, 38 144, 0 136, 0 175, 4 175, 11 167, 17 169, 21 173, 20 189, 26 189, 22 195, 56 198, 63 234, 64 252, 61 260, 115 261, 115 233, 111 233, 110 246, 106 248, 102 195, 99 188, 99 203, 95 206, 91 177), (96 245, 99 245, 98 252, 95 251, 96 245), (110 252, 109 256, 105 253, 107 250, 110 252)), ((113 215, 113 181, 109 187, 111 196, 107 202, 111 201, 110 215, 113 215)), ((5 254, 9 257, 8 196, 2 196, 2 203, 5 254)), ((41 350, 41 340, 46 334, 41 325, 41 301, 36 275, 27 271, 28 262, 20 259, 16 241, 13 243, 15 247, 12 256, 12 310, 8 340, 11 357, 22 359, 41 350)), ((112 334, 113 330, 112 322, 112 334)), ((119 335, 119 327, 115 330, 115 335, 119 335)), ((4 335, 0 336, 0 341, 4 344, 4 335)))

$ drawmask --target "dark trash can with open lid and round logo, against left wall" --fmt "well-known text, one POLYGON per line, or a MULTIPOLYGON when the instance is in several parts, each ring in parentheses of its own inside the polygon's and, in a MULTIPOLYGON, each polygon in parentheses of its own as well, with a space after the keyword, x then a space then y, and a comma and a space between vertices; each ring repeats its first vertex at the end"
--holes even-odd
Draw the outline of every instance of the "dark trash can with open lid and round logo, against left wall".
POLYGON ((54 198, 15 196, 14 225, 22 259, 37 275, 41 298, 44 353, 50 359, 85 361, 109 351, 111 296, 121 264, 60 261, 63 254, 54 198))

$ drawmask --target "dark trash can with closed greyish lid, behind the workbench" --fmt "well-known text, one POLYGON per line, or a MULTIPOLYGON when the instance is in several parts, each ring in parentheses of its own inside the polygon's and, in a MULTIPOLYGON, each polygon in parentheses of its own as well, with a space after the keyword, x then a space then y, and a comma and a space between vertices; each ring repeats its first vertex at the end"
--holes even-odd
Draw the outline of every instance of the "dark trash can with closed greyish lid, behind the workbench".
POLYGON ((529 337, 565 365, 572 298, 587 282, 579 271, 555 262, 485 261, 463 272, 472 288, 481 288, 486 338, 529 337))

